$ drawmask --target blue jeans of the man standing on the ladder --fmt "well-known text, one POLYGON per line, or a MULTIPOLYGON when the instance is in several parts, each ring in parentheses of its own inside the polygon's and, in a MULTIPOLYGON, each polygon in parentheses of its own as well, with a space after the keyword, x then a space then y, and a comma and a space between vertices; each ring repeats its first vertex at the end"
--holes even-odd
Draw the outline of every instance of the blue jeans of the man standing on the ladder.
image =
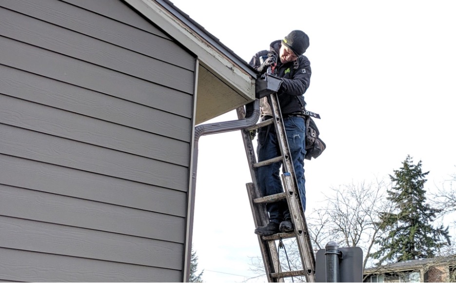
MULTIPOLYGON (((304 178, 304 156, 305 156, 305 124, 302 117, 284 118, 284 126, 290 156, 293 162, 298 191, 301 198, 303 211, 305 211, 305 178, 304 178)), ((274 125, 260 128, 258 132, 258 161, 264 161, 281 155, 278 139, 274 125)), ((282 181, 279 177, 282 161, 275 162, 257 168, 257 183, 262 196, 283 193, 282 181)), ((269 212, 269 221, 280 223, 290 218, 290 212, 286 200, 280 200, 266 204, 269 212)))

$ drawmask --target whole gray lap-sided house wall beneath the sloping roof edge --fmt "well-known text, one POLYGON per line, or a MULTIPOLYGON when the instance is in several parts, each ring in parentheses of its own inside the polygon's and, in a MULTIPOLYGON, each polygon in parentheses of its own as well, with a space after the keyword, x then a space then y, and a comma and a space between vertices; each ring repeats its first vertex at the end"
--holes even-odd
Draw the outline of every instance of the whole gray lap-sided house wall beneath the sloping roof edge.
POLYGON ((0 281, 182 281, 194 76, 121 1, 0 1, 0 281))

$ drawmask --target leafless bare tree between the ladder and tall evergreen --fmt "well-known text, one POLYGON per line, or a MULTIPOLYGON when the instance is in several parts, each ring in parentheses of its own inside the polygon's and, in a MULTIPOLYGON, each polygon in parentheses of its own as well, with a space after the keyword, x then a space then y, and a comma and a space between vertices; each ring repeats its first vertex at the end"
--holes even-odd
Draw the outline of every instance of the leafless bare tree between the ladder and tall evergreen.
POLYGON ((393 211, 391 201, 386 199, 387 189, 383 180, 331 188, 326 195, 327 205, 312 212, 308 221, 315 246, 324 248, 332 240, 344 247, 361 247, 364 268, 371 260, 375 240, 387 232, 382 230, 379 217, 380 213, 393 211))

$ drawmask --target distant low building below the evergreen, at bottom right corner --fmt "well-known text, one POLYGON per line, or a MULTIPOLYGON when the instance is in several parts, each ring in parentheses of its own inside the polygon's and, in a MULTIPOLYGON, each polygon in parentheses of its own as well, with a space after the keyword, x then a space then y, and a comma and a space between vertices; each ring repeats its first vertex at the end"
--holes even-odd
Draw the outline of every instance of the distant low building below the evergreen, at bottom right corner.
POLYGON ((456 256, 418 259, 364 269, 364 282, 455 282, 456 256))

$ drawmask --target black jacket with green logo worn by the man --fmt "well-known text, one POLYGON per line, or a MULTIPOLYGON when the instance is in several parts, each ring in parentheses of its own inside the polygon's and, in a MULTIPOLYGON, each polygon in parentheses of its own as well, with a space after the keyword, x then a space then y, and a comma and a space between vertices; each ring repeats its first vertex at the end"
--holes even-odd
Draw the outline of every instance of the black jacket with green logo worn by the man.
MULTIPOLYGON (((282 40, 273 41, 270 45, 270 50, 274 51, 277 56, 282 40)), ((256 53, 250 60, 249 65, 257 69, 260 67, 260 56, 266 56, 267 50, 256 53)), ((280 59, 277 60, 277 66, 274 74, 283 78, 283 83, 277 92, 279 97, 279 105, 282 110, 282 115, 301 112, 304 110, 305 101, 303 94, 309 88, 310 75, 310 61, 306 56, 301 55, 293 62, 282 64, 280 59)), ((272 115, 269 103, 266 97, 262 101, 262 115, 272 115)))

